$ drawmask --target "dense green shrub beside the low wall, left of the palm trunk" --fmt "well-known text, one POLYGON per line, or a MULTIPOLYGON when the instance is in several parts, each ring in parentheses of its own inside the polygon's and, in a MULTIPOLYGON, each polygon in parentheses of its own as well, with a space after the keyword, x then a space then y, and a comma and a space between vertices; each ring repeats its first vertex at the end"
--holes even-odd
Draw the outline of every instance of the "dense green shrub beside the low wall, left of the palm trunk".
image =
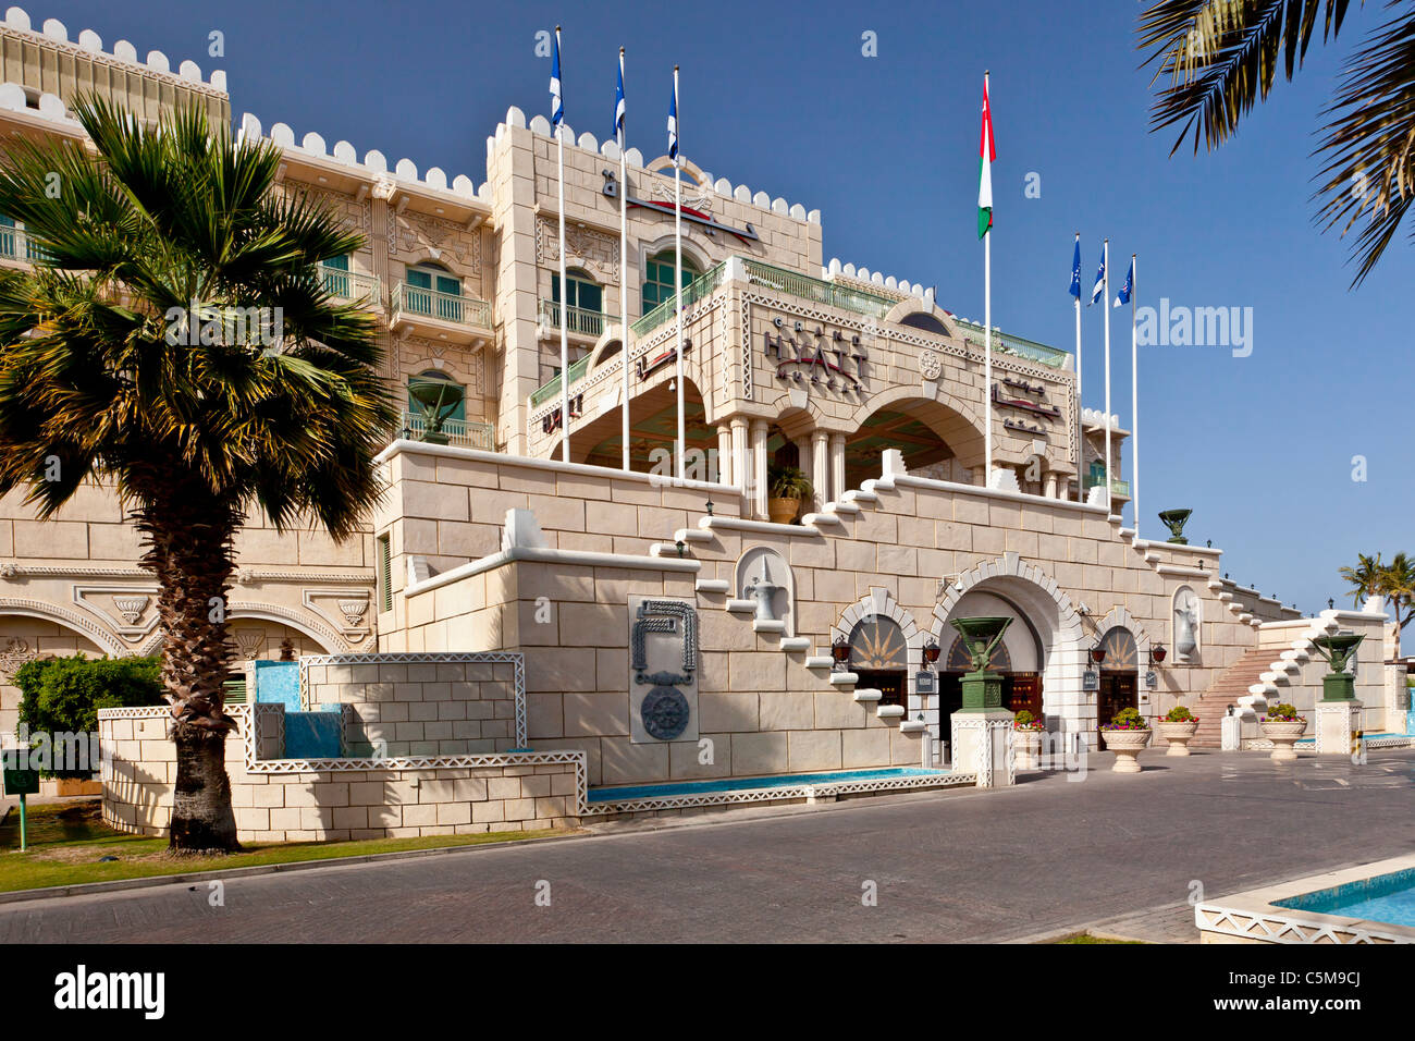
MULTIPOLYGON (((14 674, 20 722, 31 734, 92 734, 98 710, 163 702, 157 657, 88 659, 82 654, 27 661, 14 674)), ((96 766, 95 766, 96 769, 96 766)), ((83 778, 93 770, 44 770, 47 776, 83 778)))

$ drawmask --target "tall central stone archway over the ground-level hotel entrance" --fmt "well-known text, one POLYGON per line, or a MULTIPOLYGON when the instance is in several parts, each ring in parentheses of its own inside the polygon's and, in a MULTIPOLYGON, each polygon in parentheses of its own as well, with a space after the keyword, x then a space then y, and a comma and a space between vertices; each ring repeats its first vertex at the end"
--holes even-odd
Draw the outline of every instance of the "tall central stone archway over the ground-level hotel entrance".
MULTIPOLYGON (((1085 639, 1081 615, 1056 579, 1036 564, 1024 562, 1016 552, 983 561, 954 581, 934 608, 930 635, 940 647, 949 647, 955 630, 948 619, 958 602, 972 591, 993 592, 1026 615, 1041 644, 1041 711, 1047 729, 1088 734, 1095 729, 1095 702, 1082 690, 1085 639)), ((937 707, 924 711, 931 732, 938 736, 941 719, 937 707)), ((1087 738, 1088 739, 1088 738, 1087 738)))

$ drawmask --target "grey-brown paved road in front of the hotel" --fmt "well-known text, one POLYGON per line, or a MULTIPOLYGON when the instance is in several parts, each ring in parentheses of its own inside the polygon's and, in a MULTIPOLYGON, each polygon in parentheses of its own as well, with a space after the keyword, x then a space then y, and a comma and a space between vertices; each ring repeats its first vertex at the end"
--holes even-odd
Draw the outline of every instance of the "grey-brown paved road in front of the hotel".
MULTIPOLYGON (((1108 770, 1109 756, 1092 763, 1108 770)), ((737 810, 655 830, 0 906, 0 943, 1015 940, 1415 848, 1415 752, 1148 755, 1139 776, 737 810), (549 882, 549 906, 536 905, 549 882), (866 882, 877 906, 862 904, 866 882), (543 892, 543 887, 541 889, 543 892)))

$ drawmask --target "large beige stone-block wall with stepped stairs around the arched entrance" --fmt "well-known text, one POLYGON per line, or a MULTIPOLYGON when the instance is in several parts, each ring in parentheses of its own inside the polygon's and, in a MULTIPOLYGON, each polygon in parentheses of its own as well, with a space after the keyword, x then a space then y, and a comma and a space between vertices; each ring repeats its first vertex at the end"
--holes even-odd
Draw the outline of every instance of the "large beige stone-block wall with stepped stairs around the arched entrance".
POLYGON ((866 613, 883 613, 900 625, 917 670, 927 639, 952 643, 952 605, 975 589, 1006 598, 1037 629, 1053 729, 1094 732, 1095 694, 1081 673, 1101 635, 1115 626, 1133 635, 1140 677, 1152 644, 1173 646, 1182 588, 1200 602, 1200 647, 1155 670, 1148 715, 1191 701, 1257 639, 1258 622, 1221 598, 1220 550, 1135 541, 1102 507, 894 470, 804 524, 774 525, 741 520, 740 500, 723 497, 730 490, 712 494, 709 517, 698 490, 610 470, 413 445, 386 459, 393 487, 376 530, 395 533, 395 547, 402 533, 403 551, 409 537, 430 548, 454 516, 481 525, 485 554, 440 555, 440 574, 410 588, 395 567, 386 649, 402 640, 419 650, 524 649, 531 744, 583 749, 590 783, 928 762, 916 724, 923 715, 938 736, 935 700, 910 678, 906 718, 880 715, 870 691, 832 683, 829 646, 866 613), (535 513, 543 550, 501 552, 507 508, 535 513), (754 548, 790 565, 794 633, 754 625, 736 588, 737 561, 754 548), (633 595, 696 605, 706 762, 698 741, 630 738, 633 595))

